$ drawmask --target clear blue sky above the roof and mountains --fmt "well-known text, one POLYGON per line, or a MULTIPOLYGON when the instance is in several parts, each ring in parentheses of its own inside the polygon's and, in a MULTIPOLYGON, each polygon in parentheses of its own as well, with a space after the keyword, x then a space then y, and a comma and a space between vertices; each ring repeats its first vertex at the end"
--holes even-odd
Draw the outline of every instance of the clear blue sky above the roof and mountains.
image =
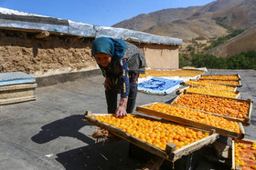
POLYGON ((207 5, 214 0, 0 0, 0 7, 91 25, 112 26, 161 9, 207 5))

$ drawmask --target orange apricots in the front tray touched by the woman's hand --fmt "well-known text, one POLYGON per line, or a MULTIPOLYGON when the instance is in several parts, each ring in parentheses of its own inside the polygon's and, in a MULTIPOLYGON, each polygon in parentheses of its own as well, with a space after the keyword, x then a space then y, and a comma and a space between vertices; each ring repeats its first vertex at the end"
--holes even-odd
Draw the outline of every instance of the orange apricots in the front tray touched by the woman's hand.
POLYGON ((207 137, 207 132, 194 130, 182 125, 172 125, 160 120, 141 115, 127 115, 116 118, 113 115, 94 116, 95 119, 123 129, 127 134, 155 145, 163 150, 168 143, 176 144, 176 148, 196 142, 207 137))

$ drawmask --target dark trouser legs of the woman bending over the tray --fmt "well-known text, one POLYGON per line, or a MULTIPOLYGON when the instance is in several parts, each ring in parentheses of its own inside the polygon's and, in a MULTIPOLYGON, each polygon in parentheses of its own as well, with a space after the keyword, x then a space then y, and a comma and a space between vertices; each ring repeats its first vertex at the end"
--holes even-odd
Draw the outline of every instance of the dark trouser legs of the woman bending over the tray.
MULTIPOLYGON (((130 92, 128 96, 128 102, 127 102, 127 108, 126 112, 127 114, 132 114, 133 109, 136 102, 137 97, 137 84, 130 84, 130 92)), ((111 90, 105 91, 107 105, 108 105, 108 113, 114 114, 115 110, 117 109, 117 92, 116 89, 113 87, 111 90)))

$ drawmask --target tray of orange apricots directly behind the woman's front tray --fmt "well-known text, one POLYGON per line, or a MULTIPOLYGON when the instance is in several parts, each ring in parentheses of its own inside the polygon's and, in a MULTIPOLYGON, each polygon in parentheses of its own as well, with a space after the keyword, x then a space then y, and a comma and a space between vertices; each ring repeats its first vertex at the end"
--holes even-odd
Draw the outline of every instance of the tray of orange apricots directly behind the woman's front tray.
POLYGON ((244 137, 244 128, 241 123, 229 120, 229 118, 225 118, 221 115, 211 115, 183 106, 161 103, 137 106, 136 111, 198 129, 214 129, 219 135, 240 139, 244 137))

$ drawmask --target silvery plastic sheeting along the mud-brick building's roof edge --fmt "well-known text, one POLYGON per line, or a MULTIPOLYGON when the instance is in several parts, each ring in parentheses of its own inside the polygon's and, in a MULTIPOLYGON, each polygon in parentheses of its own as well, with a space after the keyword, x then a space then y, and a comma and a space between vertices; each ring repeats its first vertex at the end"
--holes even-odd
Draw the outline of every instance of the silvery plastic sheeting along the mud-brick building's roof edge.
POLYGON ((151 35, 140 31, 114 28, 100 25, 89 25, 81 22, 53 18, 44 15, 33 15, 0 7, 0 27, 22 28, 58 32, 61 34, 79 35, 84 37, 108 36, 138 43, 181 45, 178 38, 151 35))

